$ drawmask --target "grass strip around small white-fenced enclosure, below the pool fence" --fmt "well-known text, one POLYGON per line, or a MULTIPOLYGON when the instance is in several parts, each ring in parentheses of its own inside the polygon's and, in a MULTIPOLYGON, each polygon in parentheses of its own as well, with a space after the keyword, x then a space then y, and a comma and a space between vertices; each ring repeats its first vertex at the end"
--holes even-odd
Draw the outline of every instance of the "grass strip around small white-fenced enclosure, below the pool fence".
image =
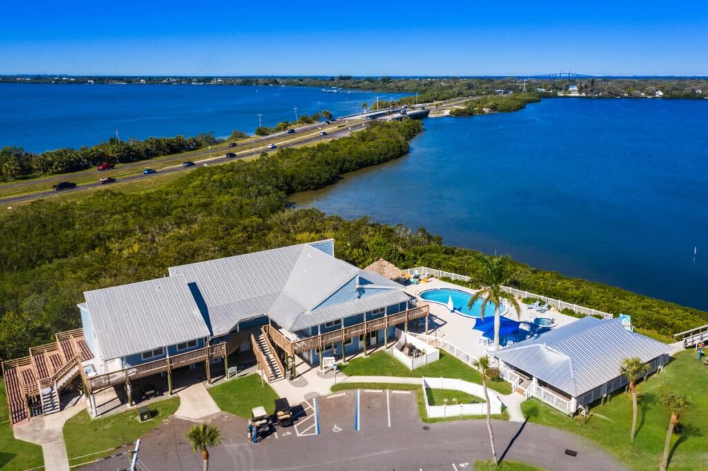
MULTIPOLYGON (((350 361, 348 365, 340 368, 347 376, 404 376, 406 378, 453 378, 481 384, 479 371, 467 366, 454 356, 440 350, 440 359, 426 366, 421 366, 413 371, 409 370, 386 351, 377 351, 367 357, 359 357, 350 361)), ((489 389, 501 394, 509 394, 511 385, 505 380, 496 379, 488 382, 489 389)))

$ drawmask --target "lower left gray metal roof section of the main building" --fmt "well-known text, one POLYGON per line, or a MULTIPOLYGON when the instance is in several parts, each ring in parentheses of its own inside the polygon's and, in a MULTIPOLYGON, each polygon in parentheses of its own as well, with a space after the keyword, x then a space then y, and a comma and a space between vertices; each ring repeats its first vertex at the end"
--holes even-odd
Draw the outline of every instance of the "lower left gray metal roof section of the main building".
POLYGON ((86 291, 104 359, 209 336, 184 277, 86 291))

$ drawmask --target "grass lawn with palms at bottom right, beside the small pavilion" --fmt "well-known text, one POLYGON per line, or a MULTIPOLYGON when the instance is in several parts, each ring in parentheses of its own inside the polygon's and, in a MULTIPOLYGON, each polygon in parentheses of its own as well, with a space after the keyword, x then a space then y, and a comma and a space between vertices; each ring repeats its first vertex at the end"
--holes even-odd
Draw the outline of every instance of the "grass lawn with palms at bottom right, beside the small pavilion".
MULTIPOLYGON (((587 424, 569 417, 536 400, 522 407, 529 420, 538 424, 573 431, 600 443, 634 470, 656 470, 661 463, 664 439, 670 417, 659 393, 665 389, 683 392, 693 401, 679 418, 681 434, 672 439, 670 470, 695 470, 708 463, 708 366, 699 364, 693 351, 684 351, 664 368, 638 385, 639 415, 634 443, 629 442, 632 426, 632 397, 619 392, 605 405, 590 409, 587 424)), ((678 426, 677 426, 678 428, 678 426)))

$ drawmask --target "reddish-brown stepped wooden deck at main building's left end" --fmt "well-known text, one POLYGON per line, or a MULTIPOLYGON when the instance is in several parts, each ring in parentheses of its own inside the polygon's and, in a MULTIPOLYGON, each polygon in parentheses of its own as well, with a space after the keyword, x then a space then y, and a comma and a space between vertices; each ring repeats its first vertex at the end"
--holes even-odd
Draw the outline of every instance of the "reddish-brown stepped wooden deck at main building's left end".
POLYGON ((60 332, 56 338, 56 342, 31 347, 28 356, 2 363, 12 425, 24 424, 30 419, 28 400, 40 394, 40 385, 42 388, 54 385, 57 378, 77 362, 93 358, 83 330, 60 332))

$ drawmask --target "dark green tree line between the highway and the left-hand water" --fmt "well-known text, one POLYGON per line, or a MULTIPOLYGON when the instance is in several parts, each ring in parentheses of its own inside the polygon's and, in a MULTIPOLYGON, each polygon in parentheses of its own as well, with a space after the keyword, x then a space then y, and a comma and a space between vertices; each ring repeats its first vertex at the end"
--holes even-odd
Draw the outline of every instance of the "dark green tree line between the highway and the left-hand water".
POLYGON ((144 141, 120 141, 111 138, 101 144, 80 149, 56 149, 42 153, 25 151, 22 147, 0 149, 0 178, 4 181, 38 175, 85 170, 103 162, 128 163, 157 156, 194 151, 220 142, 213 132, 185 137, 149 137, 144 141))

